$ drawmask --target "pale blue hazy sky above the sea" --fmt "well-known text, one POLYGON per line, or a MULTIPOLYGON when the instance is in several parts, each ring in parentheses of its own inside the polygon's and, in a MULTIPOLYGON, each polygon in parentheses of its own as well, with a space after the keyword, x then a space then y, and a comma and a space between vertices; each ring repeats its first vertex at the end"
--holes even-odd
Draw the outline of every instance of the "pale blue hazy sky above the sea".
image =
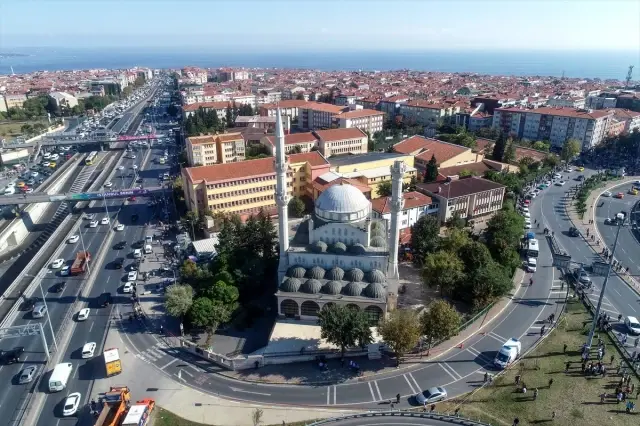
POLYGON ((0 52, 625 50, 640 0, 2 0, 0 52))

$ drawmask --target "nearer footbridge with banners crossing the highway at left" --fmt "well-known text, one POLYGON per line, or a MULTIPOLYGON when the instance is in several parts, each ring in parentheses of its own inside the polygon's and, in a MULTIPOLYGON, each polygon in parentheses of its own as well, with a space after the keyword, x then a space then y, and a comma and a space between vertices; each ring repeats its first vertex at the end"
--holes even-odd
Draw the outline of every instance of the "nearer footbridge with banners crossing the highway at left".
POLYGON ((36 203, 50 203, 56 201, 93 201, 103 199, 115 199, 115 198, 129 198, 129 197, 158 197, 171 192, 172 187, 167 186, 155 186, 151 188, 143 189, 125 189, 121 191, 103 191, 103 192, 79 192, 79 193, 67 193, 67 194, 22 194, 22 195, 4 195, 0 196, 0 206, 10 206, 16 204, 36 204, 36 203))

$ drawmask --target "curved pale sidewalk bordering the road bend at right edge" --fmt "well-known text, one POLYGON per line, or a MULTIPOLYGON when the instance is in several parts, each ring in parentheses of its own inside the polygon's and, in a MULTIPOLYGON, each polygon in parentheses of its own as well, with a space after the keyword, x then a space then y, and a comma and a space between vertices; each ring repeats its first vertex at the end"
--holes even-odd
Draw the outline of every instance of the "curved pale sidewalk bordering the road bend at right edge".
MULTIPOLYGON (((583 219, 580 219, 580 217, 578 216, 578 213, 576 212, 573 206, 573 203, 571 202, 571 198, 565 198, 566 200, 565 210, 567 211, 567 215, 569 216, 569 219, 573 223, 573 226, 575 226, 576 229, 580 231, 580 235, 583 238, 583 240, 587 243, 589 247, 591 247, 594 253, 598 257, 600 257, 600 259, 603 262, 605 262, 605 259, 604 257, 600 256, 600 252, 602 251, 602 246, 597 244, 597 241, 603 241, 603 238, 602 238, 602 235, 600 235, 600 232, 598 231, 597 224, 595 223, 596 221, 595 209, 596 209, 596 203, 598 201, 598 198, 605 191, 609 191, 618 186, 627 185, 630 182, 633 182, 638 179, 640 179, 640 176, 627 176, 624 179, 621 179, 615 182, 604 182, 603 185, 594 189, 591 192, 591 194, 589 194, 589 197, 587 197, 587 201, 585 202, 588 210, 583 219), (589 224, 589 221, 592 221, 593 223, 589 224), (594 233, 595 235, 594 241, 591 241, 590 238, 585 238, 587 234, 587 228, 594 233)), ((626 282, 629 285, 629 287, 631 287, 636 293, 640 295, 640 283, 638 283, 638 281, 636 281, 633 277, 631 277, 628 274, 620 273, 616 271, 614 271, 614 273, 617 274, 620 277, 620 279, 626 282)))

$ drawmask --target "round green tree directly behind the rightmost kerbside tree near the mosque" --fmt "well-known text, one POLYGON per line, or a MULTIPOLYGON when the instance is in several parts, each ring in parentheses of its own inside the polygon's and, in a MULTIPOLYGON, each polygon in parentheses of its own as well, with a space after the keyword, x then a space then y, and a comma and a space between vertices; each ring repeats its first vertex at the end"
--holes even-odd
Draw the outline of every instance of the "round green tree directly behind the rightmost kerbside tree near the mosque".
POLYGON ((450 251, 429 253, 422 266, 422 279, 427 286, 439 289, 442 295, 451 296, 464 279, 464 263, 450 251))

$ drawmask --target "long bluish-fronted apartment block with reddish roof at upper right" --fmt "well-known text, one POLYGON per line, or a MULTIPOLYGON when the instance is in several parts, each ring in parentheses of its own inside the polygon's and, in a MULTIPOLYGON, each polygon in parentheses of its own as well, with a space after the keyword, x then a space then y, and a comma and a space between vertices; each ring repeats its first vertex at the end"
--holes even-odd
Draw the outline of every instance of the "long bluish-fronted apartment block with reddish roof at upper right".
POLYGON ((586 151, 606 137, 612 115, 609 111, 562 107, 497 108, 492 126, 519 139, 550 141, 556 148, 567 139, 576 139, 586 151))

